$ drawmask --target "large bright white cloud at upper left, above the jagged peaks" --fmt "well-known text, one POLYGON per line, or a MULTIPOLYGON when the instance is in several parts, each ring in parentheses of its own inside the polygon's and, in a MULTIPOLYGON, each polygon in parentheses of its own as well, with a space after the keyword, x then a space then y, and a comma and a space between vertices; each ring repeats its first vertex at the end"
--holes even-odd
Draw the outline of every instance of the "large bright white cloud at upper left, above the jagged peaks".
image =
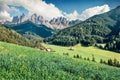
POLYGON ((62 11, 55 5, 47 4, 42 0, 2 0, 2 2, 7 5, 23 6, 29 13, 37 13, 47 19, 63 16, 62 11))

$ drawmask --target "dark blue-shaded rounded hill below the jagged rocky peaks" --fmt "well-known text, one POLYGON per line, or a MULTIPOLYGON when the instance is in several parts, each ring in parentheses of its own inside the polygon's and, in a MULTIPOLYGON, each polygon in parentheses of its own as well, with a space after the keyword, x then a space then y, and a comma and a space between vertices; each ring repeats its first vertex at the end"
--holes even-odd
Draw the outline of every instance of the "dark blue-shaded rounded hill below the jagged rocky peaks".
POLYGON ((53 30, 46 27, 45 25, 36 25, 30 21, 26 21, 24 23, 15 25, 13 27, 10 27, 11 29, 14 29, 18 33, 22 35, 26 35, 26 37, 30 38, 30 35, 33 37, 48 37, 53 34, 53 30))

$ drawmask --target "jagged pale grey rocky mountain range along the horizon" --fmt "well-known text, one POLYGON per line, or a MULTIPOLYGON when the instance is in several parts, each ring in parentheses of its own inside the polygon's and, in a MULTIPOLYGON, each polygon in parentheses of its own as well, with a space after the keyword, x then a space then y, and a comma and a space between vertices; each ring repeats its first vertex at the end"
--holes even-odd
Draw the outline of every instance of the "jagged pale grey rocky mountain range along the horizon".
POLYGON ((58 18, 53 18, 51 20, 47 20, 43 16, 37 14, 33 14, 30 17, 27 17, 25 14, 22 14, 20 17, 14 16, 11 22, 6 21, 4 24, 6 25, 21 24, 25 21, 31 21, 34 24, 45 25, 52 29, 64 29, 81 22, 78 19, 69 21, 65 17, 58 17, 58 18))

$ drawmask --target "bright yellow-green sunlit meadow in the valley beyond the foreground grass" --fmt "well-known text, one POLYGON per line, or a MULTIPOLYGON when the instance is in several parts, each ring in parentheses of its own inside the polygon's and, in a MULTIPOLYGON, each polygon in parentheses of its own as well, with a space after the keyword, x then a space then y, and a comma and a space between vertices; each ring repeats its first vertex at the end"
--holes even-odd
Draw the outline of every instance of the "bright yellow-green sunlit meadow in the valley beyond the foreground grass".
POLYGON ((62 47, 62 46, 56 46, 56 45, 50 45, 50 44, 43 44, 47 48, 52 48, 56 54, 63 55, 63 53, 69 53, 70 57, 73 57, 75 54, 79 54, 82 57, 90 58, 92 59, 92 55, 95 56, 95 59, 97 62, 100 61, 100 59, 103 59, 107 61, 108 59, 114 59, 116 58, 118 61, 120 61, 120 54, 116 52, 106 51, 102 50, 96 47, 83 47, 80 44, 72 47, 72 50, 69 50, 70 47, 62 47))

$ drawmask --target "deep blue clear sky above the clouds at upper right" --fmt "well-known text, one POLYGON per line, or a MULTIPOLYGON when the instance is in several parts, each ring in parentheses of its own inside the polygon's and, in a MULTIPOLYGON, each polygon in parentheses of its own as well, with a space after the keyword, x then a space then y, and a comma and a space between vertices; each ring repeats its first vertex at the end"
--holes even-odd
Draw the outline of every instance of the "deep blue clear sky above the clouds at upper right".
POLYGON ((83 10, 94 7, 108 4, 111 9, 120 5, 120 0, 44 0, 47 3, 53 3, 59 9, 66 11, 68 13, 77 10, 81 13, 83 10))

